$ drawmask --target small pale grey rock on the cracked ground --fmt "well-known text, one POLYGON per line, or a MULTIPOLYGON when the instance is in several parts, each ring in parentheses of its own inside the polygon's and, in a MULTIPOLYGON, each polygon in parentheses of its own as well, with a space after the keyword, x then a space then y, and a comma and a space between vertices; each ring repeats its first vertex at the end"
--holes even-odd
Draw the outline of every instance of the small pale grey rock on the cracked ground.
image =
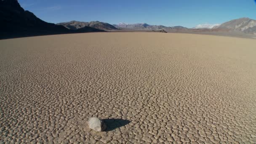
POLYGON ((104 121, 100 120, 97 117, 89 118, 88 125, 89 125, 89 128, 91 128, 94 131, 104 131, 107 128, 104 121))

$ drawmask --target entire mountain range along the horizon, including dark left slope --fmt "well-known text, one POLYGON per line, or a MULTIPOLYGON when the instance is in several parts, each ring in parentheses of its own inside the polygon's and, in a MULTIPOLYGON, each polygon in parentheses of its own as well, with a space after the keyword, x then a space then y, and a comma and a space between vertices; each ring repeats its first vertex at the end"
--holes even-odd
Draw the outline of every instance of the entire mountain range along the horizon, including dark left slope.
MULTIPOLYGON (((189 29, 182 26, 166 27, 163 25, 108 24, 100 21, 69 21, 59 24, 45 22, 30 11, 25 11, 17 0, 0 0, 0 38, 24 37, 34 35, 52 35, 80 32, 240 32, 256 35, 256 20, 240 18, 223 24, 201 24, 189 29)), ((209 33, 211 34, 211 33, 209 33)))

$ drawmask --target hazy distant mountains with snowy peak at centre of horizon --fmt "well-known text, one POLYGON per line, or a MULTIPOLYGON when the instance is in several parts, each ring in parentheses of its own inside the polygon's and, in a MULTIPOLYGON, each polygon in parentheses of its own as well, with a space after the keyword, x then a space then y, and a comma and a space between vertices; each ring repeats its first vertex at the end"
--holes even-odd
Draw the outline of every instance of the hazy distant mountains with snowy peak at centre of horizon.
POLYGON ((125 24, 125 23, 119 23, 119 24, 113 24, 113 26, 119 28, 119 29, 128 29, 128 30, 160 30, 163 29, 165 31, 170 31, 173 29, 187 29, 186 27, 176 26, 176 27, 165 27, 163 25, 149 25, 146 23, 141 24, 125 24))

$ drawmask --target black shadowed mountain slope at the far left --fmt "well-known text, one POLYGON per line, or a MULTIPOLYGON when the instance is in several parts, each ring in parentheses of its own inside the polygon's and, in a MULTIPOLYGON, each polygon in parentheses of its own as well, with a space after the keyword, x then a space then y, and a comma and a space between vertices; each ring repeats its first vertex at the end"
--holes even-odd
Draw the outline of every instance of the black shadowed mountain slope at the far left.
POLYGON ((0 37, 67 33, 63 26, 51 24, 24 11, 17 0, 0 0, 0 37))

